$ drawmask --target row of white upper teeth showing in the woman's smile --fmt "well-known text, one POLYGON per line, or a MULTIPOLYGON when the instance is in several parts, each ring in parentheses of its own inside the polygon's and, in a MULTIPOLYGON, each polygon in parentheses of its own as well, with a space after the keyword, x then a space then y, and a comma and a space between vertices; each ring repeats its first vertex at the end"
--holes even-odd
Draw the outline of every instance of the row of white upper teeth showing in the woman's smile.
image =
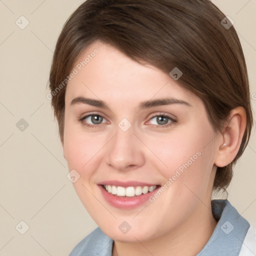
POLYGON ((129 196, 132 197, 134 195, 141 195, 146 194, 148 192, 153 191, 156 188, 156 185, 154 186, 128 186, 128 187, 122 187, 122 186, 112 186, 112 185, 103 185, 107 192, 111 194, 115 194, 117 196, 129 196))

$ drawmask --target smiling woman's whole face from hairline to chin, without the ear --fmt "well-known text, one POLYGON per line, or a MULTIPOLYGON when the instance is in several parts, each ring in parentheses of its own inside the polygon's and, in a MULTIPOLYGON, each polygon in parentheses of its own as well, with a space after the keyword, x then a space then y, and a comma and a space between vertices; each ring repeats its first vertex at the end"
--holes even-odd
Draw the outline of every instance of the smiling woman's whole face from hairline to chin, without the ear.
POLYGON ((101 230, 143 241, 209 212, 217 143, 201 99, 98 41, 73 68, 63 152, 101 230))

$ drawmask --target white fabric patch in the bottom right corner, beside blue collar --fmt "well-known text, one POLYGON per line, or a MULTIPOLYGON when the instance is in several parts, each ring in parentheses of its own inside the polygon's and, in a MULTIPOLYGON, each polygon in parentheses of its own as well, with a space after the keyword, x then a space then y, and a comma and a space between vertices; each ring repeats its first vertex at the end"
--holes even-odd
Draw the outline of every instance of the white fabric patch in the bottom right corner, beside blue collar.
POLYGON ((244 237, 242 247, 238 256, 255 256, 256 255, 256 228, 249 226, 244 237))

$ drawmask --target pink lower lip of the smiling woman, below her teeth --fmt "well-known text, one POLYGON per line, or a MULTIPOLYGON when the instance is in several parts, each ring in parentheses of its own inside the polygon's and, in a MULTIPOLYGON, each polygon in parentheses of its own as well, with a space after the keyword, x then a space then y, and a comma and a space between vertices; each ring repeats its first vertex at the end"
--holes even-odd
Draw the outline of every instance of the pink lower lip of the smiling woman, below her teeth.
POLYGON ((105 200, 110 205, 116 208, 121 208, 121 209, 132 209, 141 205, 142 203, 147 201, 149 196, 153 195, 158 188, 157 186, 153 191, 148 192, 146 194, 135 195, 132 197, 120 197, 120 196, 108 193, 102 185, 98 185, 98 186, 105 200))

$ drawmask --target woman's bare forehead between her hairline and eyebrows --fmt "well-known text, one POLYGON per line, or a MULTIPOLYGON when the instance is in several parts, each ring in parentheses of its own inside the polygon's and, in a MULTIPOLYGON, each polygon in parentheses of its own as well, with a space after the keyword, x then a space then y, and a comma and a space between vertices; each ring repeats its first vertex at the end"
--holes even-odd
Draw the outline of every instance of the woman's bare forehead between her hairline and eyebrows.
POLYGON ((99 41, 82 51, 72 71, 75 75, 67 84, 67 102, 77 96, 106 98, 106 101, 119 99, 123 104, 167 96, 200 101, 169 74, 150 64, 142 65, 112 45, 99 41))

